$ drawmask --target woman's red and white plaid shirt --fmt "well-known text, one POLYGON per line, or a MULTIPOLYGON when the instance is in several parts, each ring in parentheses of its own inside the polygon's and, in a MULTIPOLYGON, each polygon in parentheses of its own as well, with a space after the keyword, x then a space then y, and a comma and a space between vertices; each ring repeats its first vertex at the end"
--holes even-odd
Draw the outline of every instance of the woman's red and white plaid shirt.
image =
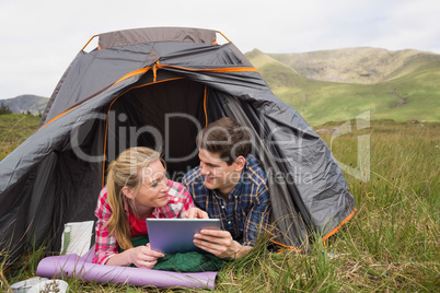
MULTIPOLYGON (((184 218, 187 210, 194 207, 192 197, 185 187, 180 183, 169 181, 171 188, 169 191, 169 203, 161 208, 154 208, 153 218, 184 218)), ((128 204, 125 204, 128 221, 128 204)), ((97 199, 97 206, 95 210, 97 218, 95 231, 96 231, 96 244, 95 244, 95 257, 94 263, 105 263, 108 258, 117 254, 118 244, 116 237, 109 234, 106 223, 112 215, 112 209, 107 200, 107 188, 104 187, 97 199)))

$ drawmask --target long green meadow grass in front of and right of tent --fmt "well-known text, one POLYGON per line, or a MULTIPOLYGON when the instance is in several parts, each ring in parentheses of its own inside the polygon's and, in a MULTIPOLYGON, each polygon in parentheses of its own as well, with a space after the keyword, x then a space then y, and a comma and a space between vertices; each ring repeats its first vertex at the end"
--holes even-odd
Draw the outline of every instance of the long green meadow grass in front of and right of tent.
MULTIPOLYGON (((351 168, 358 164, 359 136, 369 136, 369 180, 345 173, 357 214, 326 246, 313 242, 306 255, 270 251, 268 239, 260 239, 248 255, 219 271, 216 292, 440 291, 440 124, 379 120, 368 129, 356 130, 355 124, 351 129, 333 141, 332 133, 321 136, 339 164, 351 168)), ((5 282, 35 276, 43 256, 44 248, 22 256, 5 272, 0 291, 7 290, 5 282)), ((202 291, 66 281, 71 292, 202 291)))

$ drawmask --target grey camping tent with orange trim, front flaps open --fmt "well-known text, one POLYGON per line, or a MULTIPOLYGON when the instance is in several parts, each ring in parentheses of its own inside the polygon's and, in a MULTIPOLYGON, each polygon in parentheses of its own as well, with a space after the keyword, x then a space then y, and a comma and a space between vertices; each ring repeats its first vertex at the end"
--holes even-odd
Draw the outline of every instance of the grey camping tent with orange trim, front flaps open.
MULTIPOLYGON (((356 211, 325 142, 258 71, 211 30, 153 27, 99 35, 73 59, 26 141, 0 162, 0 249, 60 249, 63 225, 94 220, 105 167, 123 150, 161 150, 174 180, 198 164, 195 137, 229 116, 253 133, 268 174, 276 241, 306 249, 356 211)), ((85 46, 84 46, 85 47, 85 46)))

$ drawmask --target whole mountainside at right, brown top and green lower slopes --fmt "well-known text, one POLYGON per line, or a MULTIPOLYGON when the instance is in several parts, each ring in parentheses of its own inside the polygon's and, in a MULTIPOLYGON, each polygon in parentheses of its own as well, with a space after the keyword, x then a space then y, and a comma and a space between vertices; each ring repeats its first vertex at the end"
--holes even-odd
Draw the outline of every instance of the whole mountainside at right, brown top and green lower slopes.
POLYGON ((346 48, 246 57, 277 97, 311 125, 354 119, 440 121, 440 55, 346 48))

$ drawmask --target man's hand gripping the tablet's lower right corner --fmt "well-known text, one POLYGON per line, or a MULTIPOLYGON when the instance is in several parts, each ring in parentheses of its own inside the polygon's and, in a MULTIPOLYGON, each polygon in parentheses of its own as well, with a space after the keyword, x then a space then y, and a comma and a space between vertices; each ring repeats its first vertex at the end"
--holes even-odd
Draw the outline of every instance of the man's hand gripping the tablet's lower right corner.
POLYGON ((194 244, 220 258, 239 258, 252 249, 235 242, 231 233, 220 230, 201 230, 194 235, 194 244))

